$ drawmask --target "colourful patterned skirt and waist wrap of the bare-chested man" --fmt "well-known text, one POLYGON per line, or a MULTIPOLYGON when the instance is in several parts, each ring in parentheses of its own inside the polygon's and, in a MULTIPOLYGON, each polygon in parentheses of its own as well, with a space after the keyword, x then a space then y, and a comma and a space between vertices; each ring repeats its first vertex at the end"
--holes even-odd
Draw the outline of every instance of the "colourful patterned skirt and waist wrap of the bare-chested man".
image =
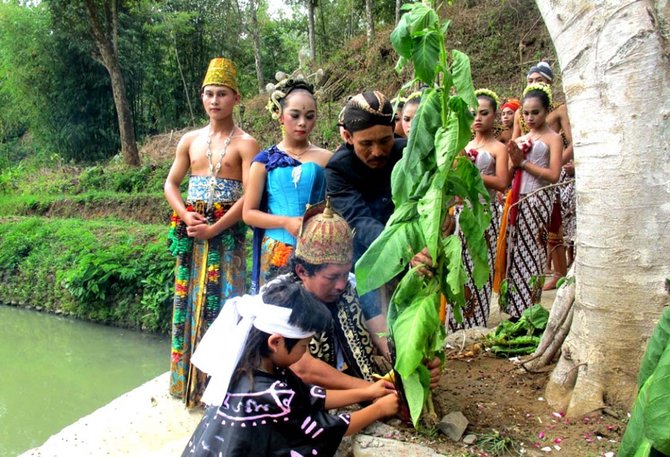
MULTIPOLYGON (((186 208, 203 214, 213 224, 242 196, 242 184, 236 180, 217 178, 215 197, 229 197, 230 200, 215 199, 212 209, 206 211, 206 201, 194 198, 202 197, 200 185, 203 180, 199 178, 209 182, 208 177, 190 178, 186 208)), ((244 293, 245 232, 246 226, 238 222, 214 238, 196 240, 187 236, 186 224, 176 213, 172 215, 168 248, 177 257, 177 265, 170 394, 184 400, 189 408, 198 406, 206 383, 206 375, 191 366, 191 355, 223 303, 244 293)))

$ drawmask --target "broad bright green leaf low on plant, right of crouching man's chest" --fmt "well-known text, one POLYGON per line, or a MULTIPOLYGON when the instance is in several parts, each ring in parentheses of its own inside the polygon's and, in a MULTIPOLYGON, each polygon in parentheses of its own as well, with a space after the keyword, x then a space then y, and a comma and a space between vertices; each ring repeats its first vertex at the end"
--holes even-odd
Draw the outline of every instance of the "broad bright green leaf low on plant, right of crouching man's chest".
POLYGON ((395 369, 403 378, 410 376, 426 358, 426 341, 440 326, 439 304, 439 293, 420 297, 398 315, 393 325, 395 369))

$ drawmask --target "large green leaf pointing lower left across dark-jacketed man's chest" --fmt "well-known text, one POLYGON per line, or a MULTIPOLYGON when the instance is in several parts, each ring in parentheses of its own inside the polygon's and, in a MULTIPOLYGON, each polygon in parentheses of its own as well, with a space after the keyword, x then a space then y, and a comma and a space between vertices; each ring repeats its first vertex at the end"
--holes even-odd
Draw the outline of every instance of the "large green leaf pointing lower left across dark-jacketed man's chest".
POLYGON ((356 288, 363 295, 403 271, 424 245, 418 222, 387 227, 356 262, 356 288))

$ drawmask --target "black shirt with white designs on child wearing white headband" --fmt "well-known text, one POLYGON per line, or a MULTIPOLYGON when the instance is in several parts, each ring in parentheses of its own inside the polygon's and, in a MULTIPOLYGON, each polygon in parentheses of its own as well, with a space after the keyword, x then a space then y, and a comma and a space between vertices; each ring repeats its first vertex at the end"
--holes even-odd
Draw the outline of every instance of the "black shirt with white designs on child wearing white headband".
POLYGON ((333 456, 351 416, 328 414, 325 402, 324 389, 287 368, 257 370, 207 408, 182 457, 333 456))

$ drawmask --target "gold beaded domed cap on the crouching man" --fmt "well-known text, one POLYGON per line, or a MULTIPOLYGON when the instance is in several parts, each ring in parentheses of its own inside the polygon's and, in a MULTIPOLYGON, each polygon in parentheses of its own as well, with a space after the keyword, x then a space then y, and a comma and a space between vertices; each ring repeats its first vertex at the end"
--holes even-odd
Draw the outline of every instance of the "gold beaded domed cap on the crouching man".
POLYGON ((330 206, 330 199, 310 206, 302 218, 296 257, 314 265, 347 264, 354 258, 354 232, 330 206))

